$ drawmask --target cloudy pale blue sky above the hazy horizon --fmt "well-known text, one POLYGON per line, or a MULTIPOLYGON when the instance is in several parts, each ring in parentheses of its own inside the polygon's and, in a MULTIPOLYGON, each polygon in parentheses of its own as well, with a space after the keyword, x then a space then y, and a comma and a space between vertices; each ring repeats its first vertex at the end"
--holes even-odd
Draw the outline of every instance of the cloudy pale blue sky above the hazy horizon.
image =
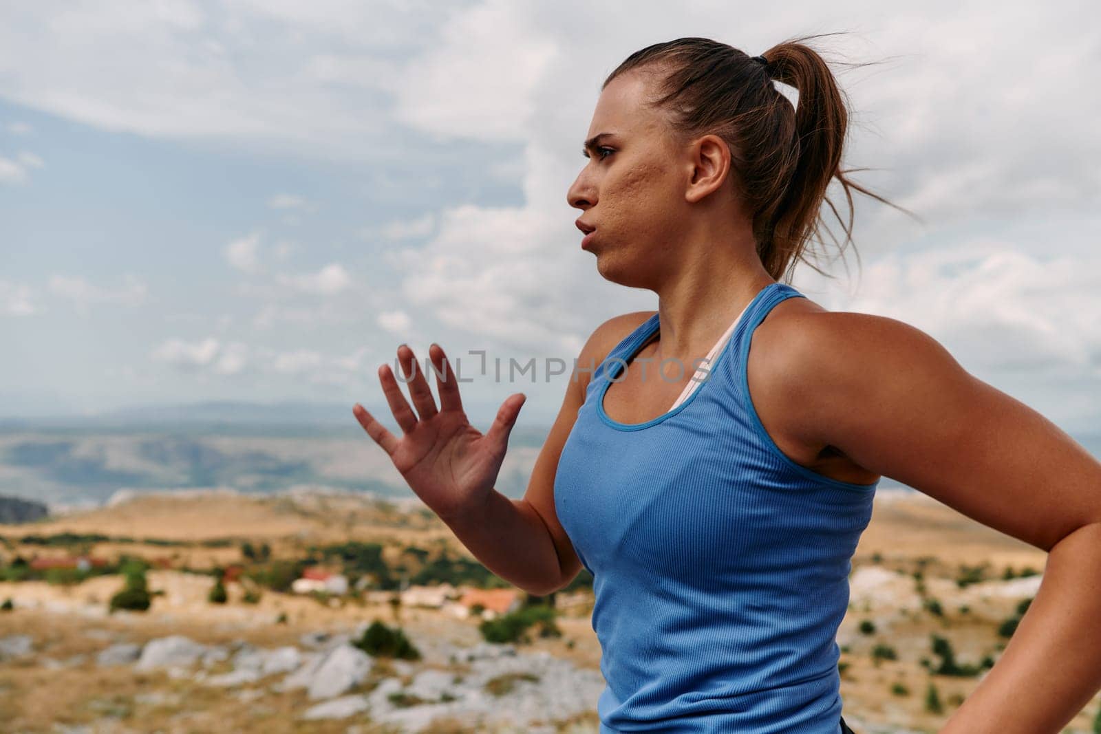
POLYGON ((843 163, 920 221, 858 194, 859 264, 793 285, 1101 430, 1098 15, 2 1, 0 417, 232 399, 385 418, 378 366, 437 341, 472 414, 524 392, 521 424, 549 421, 566 383, 546 360, 657 305, 600 277, 566 201, 604 77, 680 36, 754 55, 837 32, 814 45, 851 105, 843 163), (505 372, 536 358, 536 382, 478 375, 480 350, 505 372))

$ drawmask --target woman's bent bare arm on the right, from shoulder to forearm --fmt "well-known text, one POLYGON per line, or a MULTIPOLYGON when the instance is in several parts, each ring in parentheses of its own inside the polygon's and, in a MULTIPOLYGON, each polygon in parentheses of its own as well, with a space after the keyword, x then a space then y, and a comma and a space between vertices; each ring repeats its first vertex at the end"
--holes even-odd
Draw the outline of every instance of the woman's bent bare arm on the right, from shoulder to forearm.
POLYGON ((941 734, 1057 734, 1101 688, 1101 462, 909 325, 791 318, 762 329, 749 366, 775 430, 1048 551, 1003 655, 941 734))

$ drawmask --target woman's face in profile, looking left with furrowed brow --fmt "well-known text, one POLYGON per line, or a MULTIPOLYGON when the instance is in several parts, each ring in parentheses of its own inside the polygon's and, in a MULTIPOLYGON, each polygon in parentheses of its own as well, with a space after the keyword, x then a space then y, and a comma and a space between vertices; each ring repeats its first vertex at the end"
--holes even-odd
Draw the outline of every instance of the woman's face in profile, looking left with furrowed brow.
POLYGON ((633 287, 652 287, 675 261, 690 171, 664 119, 643 105, 647 84, 629 72, 601 91, 586 135, 596 141, 566 193, 585 231, 596 228, 585 249, 597 270, 633 287))

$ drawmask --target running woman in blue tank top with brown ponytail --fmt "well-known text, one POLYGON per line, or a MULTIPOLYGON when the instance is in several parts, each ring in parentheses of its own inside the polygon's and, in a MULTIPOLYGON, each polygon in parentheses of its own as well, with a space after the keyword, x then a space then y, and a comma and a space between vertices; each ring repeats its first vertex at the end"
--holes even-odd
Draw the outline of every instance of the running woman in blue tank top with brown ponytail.
POLYGON ((355 415, 498 576, 544 595, 592 572, 602 732, 849 731, 836 632, 890 476, 1049 552, 941 733, 1054 734, 1101 687, 1101 463, 918 329, 780 282, 832 179, 883 200, 839 168, 846 106, 806 40, 678 39, 606 80, 567 198, 600 274, 658 308, 589 337, 523 500, 493 489, 523 394, 482 435, 439 346, 438 409, 402 344, 415 414, 379 370, 402 437, 355 415))

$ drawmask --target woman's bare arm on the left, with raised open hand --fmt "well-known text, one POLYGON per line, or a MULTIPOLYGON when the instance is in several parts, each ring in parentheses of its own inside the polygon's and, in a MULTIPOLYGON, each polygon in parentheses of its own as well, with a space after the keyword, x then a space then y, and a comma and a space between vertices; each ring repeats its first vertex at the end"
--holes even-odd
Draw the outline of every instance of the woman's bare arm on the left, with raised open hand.
MULTIPOLYGON (((383 393, 405 435, 402 439, 390 435, 358 404, 353 412, 367 432, 394 459, 399 471, 417 495, 486 568, 528 593, 545 595, 567 585, 581 568, 555 513, 554 478, 563 446, 585 402, 587 375, 591 375, 586 370, 599 364, 612 347, 648 315, 640 311, 618 316, 601 324, 589 337, 577 358, 580 369, 571 374, 558 416, 543 443, 527 491, 521 500, 501 494, 492 483, 495 482, 509 432, 523 401, 515 396, 506 398, 493 425, 482 437, 462 414, 458 383, 450 365, 445 364, 446 354, 438 344, 429 348, 429 359, 446 377, 443 381, 437 377, 436 381, 440 395, 439 410, 435 408, 426 379, 416 374, 410 382, 410 394, 422 416, 418 419, 405 402, 393 373, 389 366, 383 366, 379 371, 383 393), (435 424, 442 424, 443 428, 434 431, 435 424), (459 438, 454 438, 455 435, 459 438), (467 438, 462 439, 464 436, 467 438), (419 448, 402 453, 403 442, 419 448), (439 458, 449 454, 455 458, 447 461, 439 458), (477 458, 482 454, 486 458, 477 458), (451 481, 451 475, 467 473, 465 470, 470 464, 479 468, 476 480, 458 484, 451 481), (426 465, 429 470, 424 469, 426 465), (417 467, 422 469, 418 471, 417 467), (440 479, 444 476, 446 481, 440 479)), ((408 377, 413 374, 412 350, 408 347, 399 349, 399 359, 403 373, 408 377)))

